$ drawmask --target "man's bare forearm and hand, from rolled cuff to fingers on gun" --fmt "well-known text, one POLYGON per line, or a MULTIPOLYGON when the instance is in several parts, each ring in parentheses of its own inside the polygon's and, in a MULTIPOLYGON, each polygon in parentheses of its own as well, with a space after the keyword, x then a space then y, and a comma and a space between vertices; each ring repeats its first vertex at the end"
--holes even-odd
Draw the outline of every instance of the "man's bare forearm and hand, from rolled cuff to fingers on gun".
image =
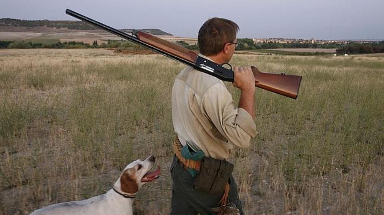
POLYGON ((233 86, 241 90, 238 107, 246 110, 255 118, 255 76, 251 67, 233 67, 235 80, 233 86))

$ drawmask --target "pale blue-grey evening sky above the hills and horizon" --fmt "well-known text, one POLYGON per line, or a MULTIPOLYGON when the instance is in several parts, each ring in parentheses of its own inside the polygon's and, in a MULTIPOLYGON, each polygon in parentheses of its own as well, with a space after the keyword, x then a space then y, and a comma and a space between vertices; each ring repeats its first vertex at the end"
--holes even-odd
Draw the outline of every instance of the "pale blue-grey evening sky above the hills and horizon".
POLYGON ((238 38, 384 40, 384 0, 0 0, 0 18, 76 20, 69 8, 114 28, 159 28, 197 37, 209 18, 240 26, 238 38))

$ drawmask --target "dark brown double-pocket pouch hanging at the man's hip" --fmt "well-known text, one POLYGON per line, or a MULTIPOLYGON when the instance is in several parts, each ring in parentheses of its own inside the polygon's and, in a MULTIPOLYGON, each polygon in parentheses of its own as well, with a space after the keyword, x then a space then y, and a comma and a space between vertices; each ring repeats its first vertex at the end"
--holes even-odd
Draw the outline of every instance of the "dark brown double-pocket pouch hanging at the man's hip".
POLYGON ((225 160, 203 158, 194 180, 194 189, 211 194, 221 194, 233 170, 233 164, 225 160))

